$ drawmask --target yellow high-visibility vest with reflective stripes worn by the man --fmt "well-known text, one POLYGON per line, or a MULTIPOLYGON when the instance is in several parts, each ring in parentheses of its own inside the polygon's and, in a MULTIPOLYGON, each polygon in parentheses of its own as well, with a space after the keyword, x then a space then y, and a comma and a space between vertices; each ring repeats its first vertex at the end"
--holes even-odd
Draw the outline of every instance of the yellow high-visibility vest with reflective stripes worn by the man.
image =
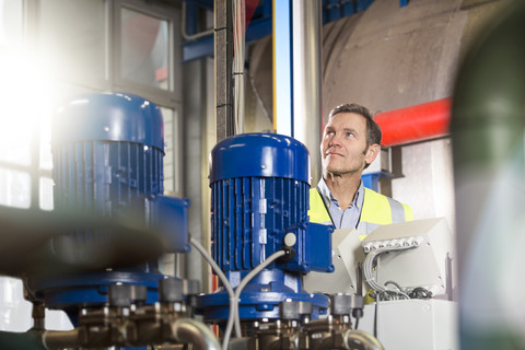
MULTIPOLYGON (((310 222, 332 224, 330 214, 317 188, 310 189, 308 217, 310 222)), ((363 207, 357 229, 361 241, 381 225, 412 220, 413 213, 409 206, 377 194, 370 188, 364 188, 363 207)))

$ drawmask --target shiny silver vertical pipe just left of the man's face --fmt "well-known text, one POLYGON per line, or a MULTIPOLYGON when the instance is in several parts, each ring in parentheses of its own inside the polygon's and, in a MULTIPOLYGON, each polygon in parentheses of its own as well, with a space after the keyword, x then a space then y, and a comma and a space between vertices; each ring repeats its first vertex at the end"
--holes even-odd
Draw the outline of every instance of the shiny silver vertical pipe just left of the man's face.
POLYGON ((310 150, 312 185, 320 178, 322 2, 293 0, 293 133, 310 150))

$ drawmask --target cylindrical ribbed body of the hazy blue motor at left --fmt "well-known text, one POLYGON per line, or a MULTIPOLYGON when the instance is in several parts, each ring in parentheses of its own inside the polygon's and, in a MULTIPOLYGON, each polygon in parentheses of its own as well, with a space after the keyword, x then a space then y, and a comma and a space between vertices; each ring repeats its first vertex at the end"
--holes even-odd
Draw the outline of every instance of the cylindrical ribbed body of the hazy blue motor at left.
POLYGON ((118 93, 80 96, 58 108, 51 148, 55 208, 114 217, 136 198, 163 192, 160 108, 118 93))

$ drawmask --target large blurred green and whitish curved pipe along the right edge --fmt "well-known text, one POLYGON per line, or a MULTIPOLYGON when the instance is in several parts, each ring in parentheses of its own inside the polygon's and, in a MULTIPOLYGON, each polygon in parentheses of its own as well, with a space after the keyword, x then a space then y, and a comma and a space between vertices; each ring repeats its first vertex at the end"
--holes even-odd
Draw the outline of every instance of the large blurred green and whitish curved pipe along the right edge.
POLYGON ((488 23, 459 69, 451 119, 459 339, 523 349, 525 1, 488 23))

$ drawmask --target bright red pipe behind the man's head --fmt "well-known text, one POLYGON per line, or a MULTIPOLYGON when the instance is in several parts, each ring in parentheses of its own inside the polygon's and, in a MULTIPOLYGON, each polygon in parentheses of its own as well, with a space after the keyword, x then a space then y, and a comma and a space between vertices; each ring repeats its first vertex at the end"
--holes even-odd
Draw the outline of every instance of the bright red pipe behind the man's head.
POLYGON ((443 98, 376 114, 382 144, 392 147, 447 136, 451 105, 452 98, 443 98))

